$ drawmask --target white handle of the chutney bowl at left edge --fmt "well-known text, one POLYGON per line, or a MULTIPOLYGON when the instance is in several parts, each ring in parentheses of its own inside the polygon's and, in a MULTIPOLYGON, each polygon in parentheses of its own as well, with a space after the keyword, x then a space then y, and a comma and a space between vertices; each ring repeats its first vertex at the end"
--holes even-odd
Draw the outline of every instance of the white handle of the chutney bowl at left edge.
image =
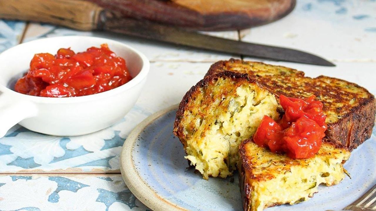
POLYGON ((12 98, 12 95, 0 95, 0 138, 4 137, 11 127, 24 119, 36 116, 38 110, 33 102, 12 98))

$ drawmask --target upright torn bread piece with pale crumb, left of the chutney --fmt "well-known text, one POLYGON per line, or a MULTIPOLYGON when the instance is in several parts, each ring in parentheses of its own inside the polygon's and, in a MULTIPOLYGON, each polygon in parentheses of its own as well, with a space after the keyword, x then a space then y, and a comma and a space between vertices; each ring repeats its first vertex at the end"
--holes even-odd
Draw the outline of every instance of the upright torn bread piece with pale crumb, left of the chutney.
POLYGON ((264 115, 279 119, 275 96, 247 74, 225 71, 186 93, 174 134, 203 178, 225 178, 237 169, 240 142, 255 133, 264 115))

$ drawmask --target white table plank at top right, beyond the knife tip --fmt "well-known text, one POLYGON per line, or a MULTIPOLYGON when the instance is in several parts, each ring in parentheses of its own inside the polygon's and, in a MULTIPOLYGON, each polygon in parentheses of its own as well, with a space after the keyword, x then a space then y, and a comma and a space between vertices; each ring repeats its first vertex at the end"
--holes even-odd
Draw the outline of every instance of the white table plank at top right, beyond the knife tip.
POLYGON ((335 62, 376 62, 376 2, 298 0, 287 17, 244 30, 241 37, 335 62))

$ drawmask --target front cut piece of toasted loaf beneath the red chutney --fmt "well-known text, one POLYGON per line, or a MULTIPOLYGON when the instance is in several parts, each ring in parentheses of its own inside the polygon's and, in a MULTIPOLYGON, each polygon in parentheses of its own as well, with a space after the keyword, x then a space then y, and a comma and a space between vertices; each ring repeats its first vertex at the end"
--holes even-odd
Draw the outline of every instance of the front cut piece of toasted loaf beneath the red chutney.
POLYGON ((251 139, 239 149, 239 181, 245 211, 308 200, 319 184, 338 184, 344 178, 345 148, 324 142, 308 159, 292 159, 259 147, 251 139))

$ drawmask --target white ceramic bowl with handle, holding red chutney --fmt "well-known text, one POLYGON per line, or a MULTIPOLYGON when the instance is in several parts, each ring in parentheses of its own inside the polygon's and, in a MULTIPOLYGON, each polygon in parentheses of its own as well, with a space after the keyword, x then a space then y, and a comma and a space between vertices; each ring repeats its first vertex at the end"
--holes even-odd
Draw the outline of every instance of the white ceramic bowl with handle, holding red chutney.
POLYGON ((63 36, 38 39, 10 48, 0 54, 0 137, 13 125, 55 136, 77 136, 109 127, 133 107, 149 72, 144 54, 121 42, 87 36, 63 36), (75 52, 107 43, 117 56, 126 60, 133 77, 115 89, 94 95, 47 98, 24 95, 14 84, 29 69, 36 53, 56 54, 59 48, 75 52))

